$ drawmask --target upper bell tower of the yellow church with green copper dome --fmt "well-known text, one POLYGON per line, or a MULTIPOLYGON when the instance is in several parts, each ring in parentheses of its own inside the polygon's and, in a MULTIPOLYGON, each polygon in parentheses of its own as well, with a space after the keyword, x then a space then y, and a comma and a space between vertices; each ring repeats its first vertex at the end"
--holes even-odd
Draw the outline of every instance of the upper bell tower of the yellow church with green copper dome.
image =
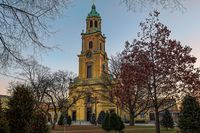
POLYGON ((79 57, 79 79, 99 79, 107 70, 106 37, 101 32, 101 16, 93 4, 86 18, 86 32, 81 33, 82 50, 79 57))

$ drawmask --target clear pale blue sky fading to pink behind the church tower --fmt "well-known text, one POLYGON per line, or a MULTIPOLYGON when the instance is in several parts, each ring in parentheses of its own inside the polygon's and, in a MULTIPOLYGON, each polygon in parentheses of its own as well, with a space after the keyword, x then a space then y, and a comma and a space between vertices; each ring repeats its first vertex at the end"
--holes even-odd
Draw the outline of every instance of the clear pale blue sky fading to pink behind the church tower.
MULTIPOLYGON (((44 42, 57 45, 58 49, 44 52, 38 57, 40 64, 52 71, 68 70, 78 75, 78 57, 81 51, 81 32, 86 29, 86 17, 91 10, 92 0, 73 0, 62 15, 49 22, 54 33, 44 42)), ((132 41, 140 31, 139 23, 148 17, 152 9, 128 11, 120 0, 96 0, 97 11, 102 18, 102 32, 106 36, 108 56, 124 48, 125 41, 132 41)), ((190 46, 200 67, 200 1, 184 0, 185 11, 161 9, 160 21, 172 31, 170 38, 182 45, 190 46)), ((8 83, 14 78, 0 75, 0 94, 7 94, 8 83)))

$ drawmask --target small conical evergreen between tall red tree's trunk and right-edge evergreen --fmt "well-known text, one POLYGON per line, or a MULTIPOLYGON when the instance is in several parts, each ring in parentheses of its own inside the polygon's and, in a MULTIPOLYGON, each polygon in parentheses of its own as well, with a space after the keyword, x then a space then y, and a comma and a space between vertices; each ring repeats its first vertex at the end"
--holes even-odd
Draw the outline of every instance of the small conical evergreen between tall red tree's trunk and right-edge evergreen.
POLYGON ((169 110, 165 110, 163 118, 161 120, 161 125, 168 130, 168 128, 174 128, 174 121, 169 110))

